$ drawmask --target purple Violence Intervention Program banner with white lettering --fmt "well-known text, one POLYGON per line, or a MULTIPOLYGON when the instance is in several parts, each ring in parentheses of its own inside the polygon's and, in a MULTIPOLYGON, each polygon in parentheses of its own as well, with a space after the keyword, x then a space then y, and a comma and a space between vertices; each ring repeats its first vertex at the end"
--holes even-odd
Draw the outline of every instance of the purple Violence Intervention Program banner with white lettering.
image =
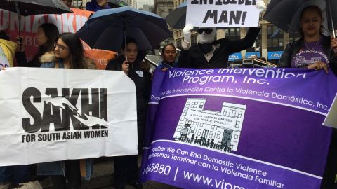
POLYGON ((319 188, 332 71, 156 72, 142 181, 182 188, 319 188))

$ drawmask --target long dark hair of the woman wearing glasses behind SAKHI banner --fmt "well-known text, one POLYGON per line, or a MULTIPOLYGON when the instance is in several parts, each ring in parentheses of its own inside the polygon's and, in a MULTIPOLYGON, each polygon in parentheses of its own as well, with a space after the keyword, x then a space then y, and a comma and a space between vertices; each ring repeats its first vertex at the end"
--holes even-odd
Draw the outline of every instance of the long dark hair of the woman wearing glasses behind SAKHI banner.
POLYGON ((69 47, 70 68, 87 69, 87 65, 84 63, 84 49, 79 36, 73 33, 63 33, 55 39, 55 42, 59 38, 69 47))

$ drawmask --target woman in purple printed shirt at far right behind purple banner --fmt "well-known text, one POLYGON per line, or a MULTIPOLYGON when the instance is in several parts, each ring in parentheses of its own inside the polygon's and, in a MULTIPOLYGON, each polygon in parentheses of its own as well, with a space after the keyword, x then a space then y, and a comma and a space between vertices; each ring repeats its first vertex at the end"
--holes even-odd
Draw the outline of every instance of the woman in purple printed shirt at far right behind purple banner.
MULTIPOLYGON (((324 69, 336 71, 337 38, 322 34, 322 10, 318 6, 307 6, 300 13, 300 35, 298 41, 286 45, 278 67, 324 69)), ((336 73, 336 72, 335 72, 336 73)))

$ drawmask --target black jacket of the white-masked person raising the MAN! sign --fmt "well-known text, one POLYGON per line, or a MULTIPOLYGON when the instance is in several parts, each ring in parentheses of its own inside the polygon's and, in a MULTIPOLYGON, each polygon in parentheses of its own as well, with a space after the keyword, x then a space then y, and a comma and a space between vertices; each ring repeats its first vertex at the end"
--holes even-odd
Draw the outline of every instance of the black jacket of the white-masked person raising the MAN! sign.
POLYGON ((180 68, 227 68, 228 56, 234 52, 240 52, 250 48, 256 36, 260 32, 259 27, 249 28, 246 37, 239 40, 231 41, 229 38, 221 38, 215 43, 220 45, 214 53, 213 57, 207 62, 199 45, 193 45, 189 50, 181 50, 178 67, 180 68))

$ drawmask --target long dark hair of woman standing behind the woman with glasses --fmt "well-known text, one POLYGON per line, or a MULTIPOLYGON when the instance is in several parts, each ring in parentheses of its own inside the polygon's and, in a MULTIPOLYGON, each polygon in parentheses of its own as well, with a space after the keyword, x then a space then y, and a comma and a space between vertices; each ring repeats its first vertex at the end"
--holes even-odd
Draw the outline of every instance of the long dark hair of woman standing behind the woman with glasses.
POLYGON ((37 66, 39 66, 38 64, 41 64, 39 59, 42 55, 44 55, 44 53, 54 50, 54 41, 55 41, 55 38, 57 38, 59 34, 58 27, 56 27, 55 25, 51 23, 44 23, 40 25, 39 28, 44 30, 44 35, 46 36, 47 41, 43 45, 39 45, 39 51, 32 59, 34 64, 37 64, 37 66))

